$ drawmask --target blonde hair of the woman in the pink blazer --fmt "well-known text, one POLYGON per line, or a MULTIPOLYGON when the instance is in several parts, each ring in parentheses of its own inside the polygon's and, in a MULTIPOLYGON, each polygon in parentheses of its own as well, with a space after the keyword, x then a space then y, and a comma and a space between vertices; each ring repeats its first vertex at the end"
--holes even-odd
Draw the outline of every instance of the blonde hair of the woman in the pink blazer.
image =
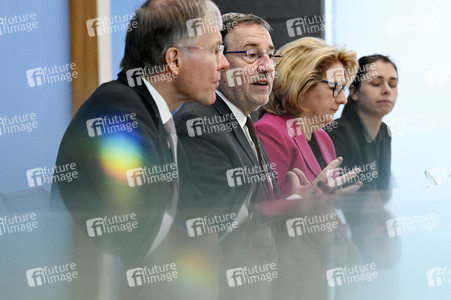
POLYGON ((305 93, 318 83, 327 69, 341 62, 345 69, 345 83, 352 82, 356 67, 356 53, 329 46, 323 40, 305 37, 285 44, 278 54, 276 78, 269 102, 264 110, 274 115, 289 113, 297 116, 307 111, 302 106, 305 93))

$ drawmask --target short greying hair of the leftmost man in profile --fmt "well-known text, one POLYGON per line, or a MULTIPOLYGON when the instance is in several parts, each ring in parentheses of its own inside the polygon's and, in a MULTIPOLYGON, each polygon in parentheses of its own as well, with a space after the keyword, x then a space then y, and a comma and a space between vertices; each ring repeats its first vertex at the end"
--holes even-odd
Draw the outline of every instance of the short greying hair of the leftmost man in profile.
POLYGON ((147 0, 130 20, 121 68, 164 65, 166 51, 190 38, 187 22, 209 14, 219 30, 221 13, 210 0, 147 0))

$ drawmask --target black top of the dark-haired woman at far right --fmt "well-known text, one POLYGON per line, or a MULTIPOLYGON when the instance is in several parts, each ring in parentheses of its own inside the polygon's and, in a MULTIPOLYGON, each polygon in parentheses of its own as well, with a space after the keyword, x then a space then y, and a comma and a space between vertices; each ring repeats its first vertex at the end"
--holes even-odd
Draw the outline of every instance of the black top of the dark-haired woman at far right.
POLYGON ((359 167, 358 179, 363 182, 359 191, 386 190, 390 188, 391 136, 382 122, 373 139, 355 109, 343 111, 337 127, 329 135, 345 172, 359 167))

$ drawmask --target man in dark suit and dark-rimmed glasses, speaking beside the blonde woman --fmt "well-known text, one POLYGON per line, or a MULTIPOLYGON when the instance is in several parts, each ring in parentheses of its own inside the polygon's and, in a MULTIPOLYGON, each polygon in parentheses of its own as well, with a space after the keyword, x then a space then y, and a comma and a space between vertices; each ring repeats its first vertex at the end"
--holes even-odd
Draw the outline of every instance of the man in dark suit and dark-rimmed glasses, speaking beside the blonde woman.
POLYGON ((213 105, 186 103, 174 119, 189 157, 194 185, 202 193, 200 199, 183 205, 213 209, 212 213, 238 213, 245 201, 247 205, 267 201, 278 193, 266 153, 261 144, 255 145, 249 123, 246 124, 250 113, 268 101, 274 78, 274 46, 269 24, 257 16, 231 13, 224 15, 223 21, 224 46, 231 50, 225 53, 233 68, 222 72, 213 105), (260 58, 248 62, 246 53, 232 50, 255 51, 260 58), (245 78, 230 86, 231 77, 237 76, 234 72, 245 78), (268 174, 261 167, 259 150, 268 174), (232 171, 237 168, 242 170, 234 174, 232 171), (268 175, 270 180, 260 180, 264 179, 261 176, 249 182, 247 175, 257 173, 268 175))

